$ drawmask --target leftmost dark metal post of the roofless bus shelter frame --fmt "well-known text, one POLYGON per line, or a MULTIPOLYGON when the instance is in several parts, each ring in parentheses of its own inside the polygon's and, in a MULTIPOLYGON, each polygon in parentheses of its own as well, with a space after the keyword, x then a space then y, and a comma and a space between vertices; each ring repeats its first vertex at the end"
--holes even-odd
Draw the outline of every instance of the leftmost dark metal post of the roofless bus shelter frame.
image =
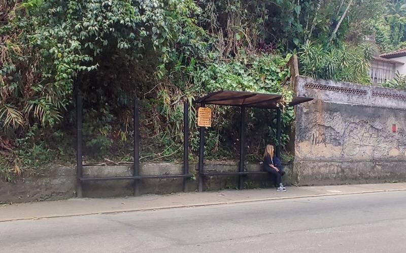
POLYGON ((82 118, 82 96, 78 95, 76 97, 76 124, 77 124, 77 143, 76 143, 76 168, 77 168, 77 178, 78 178, 78 185, 77 185, 77 197, 82 197, 82 182, 80 179, 83 177, 83 161, 82 161, 82 125, 83 125, 83 118, 82 118))

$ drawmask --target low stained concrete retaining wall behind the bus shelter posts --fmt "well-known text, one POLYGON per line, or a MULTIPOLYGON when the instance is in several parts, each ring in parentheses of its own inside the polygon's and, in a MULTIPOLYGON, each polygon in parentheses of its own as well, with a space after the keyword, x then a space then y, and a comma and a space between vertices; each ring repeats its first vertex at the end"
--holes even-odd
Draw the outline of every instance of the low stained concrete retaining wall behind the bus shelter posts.
MULTIPOLYGON (((206 162, 206 171, 231 172, 238 168, 237 162, 206 162)), ((191 173, 197 174, 197 164, 191 163, 191 173)), ((247 164, 248 171, 260 171, 258 164, 247 164)), ((15 183, 0 182, 0 203, 29 202, 40 200, 59 200, 76 195, 76 167, 55 166, 46 170, 47 175, 25 175, 15 183)), ((292 165, 285 165, 285 184, 295 182, 292 165)), ((140 168, 141 175, 182 174, 182 165, 173 163, 146 163, 140 168)), ((84 177, 131 176, 131 166, 84 166, 84 177)), ((236 189, 238 177, 211 177, 205 180, 205 191, 236 189)), ((141 194, 170 194, 181 192, 183 179, 144 179, 140 180, 141 194)), ((272 187, 272 180, 267 175, 251 175, 246 178, 245 188, 272 187)), ((187 182, 188 191, 197 190, 196 179, 187 182)), ((84 197, 118 197, 131 196, 132 181, 104 181, 83 183, 84 197)))

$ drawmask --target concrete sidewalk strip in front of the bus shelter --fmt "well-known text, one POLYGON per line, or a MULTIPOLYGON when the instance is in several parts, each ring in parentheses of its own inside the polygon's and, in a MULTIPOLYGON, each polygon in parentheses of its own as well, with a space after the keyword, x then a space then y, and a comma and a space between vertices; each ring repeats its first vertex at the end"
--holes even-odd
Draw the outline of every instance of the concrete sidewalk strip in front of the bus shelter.
POLYGON ((67 199, 11 205, 5 204, 0 206, 0 222, 405 190, 406 183, 396 183, 288 187, 286 192, 277 192, 273 188, 242 191, 223 190, 202 193, 189 192, 171 195, 144 195, 141 197, 126 198, 67 199))

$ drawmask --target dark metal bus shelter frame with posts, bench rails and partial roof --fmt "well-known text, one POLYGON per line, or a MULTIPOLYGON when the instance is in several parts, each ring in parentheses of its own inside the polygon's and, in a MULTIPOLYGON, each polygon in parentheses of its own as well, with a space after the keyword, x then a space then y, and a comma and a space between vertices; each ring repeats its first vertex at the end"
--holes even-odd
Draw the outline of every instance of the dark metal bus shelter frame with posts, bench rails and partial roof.
MULTIPOLYGON (((200 107, 206 107, 207 104, 223 105, 223 106, 236 106, 241 107, 241 122, 240 122, 240 164, 236 172, 205 172, 204 170, 204 147, 205 147, 205 127, 199 128, 199 164, 198 164, 198 190, 203 191, 203 184, 205 177, 211 176, 239 176, 239 189, 244 188, 244 176, 249 174, 260 174, 264 172, 245 172, 244 171, 244 146, 245 146, 245 111, 247 107, 261 108, 261 109, 275 109, 277 110, 277 140, 278 145, 276 154, 280 156, 280 140, 281 140, 281 100, 282 95, 279 94, 262 94, 251 92, 236 92, 236 91, 217 91, 209 93, 194 101, 200 107)), ((293 97, 292 102, 288 106, 294 106, 300 103, 313 100, 307 97, 293 97)), ((118 176, 118 177, 97 177, 90 178, 83 176, 83 117, 82 117, 82 97, 77 96, 76 99, 76 113, 77 113, 77 178, 78 178, 78 197, 82 195, 82 184, 89 181, 120 181, 130 180, 133 181, 134 195, 140 195, 140 180, 142 179, 167 179, 167 178, 182 178, 183 190, 186 191, 186 182, 192 177, 189 173, 189 103, 184 103, 183 111, 183 171, 179 175, 140 175, 140 104, 141 102, 136 98, 134 99, 133 106, 133 172, 132 176, 118 176)))

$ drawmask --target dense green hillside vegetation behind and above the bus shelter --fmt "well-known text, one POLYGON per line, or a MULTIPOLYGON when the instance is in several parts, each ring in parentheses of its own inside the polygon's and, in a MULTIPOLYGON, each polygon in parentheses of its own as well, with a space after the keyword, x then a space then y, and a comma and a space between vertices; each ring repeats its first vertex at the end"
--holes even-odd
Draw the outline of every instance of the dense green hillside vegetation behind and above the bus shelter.
MULTIPOLYGON (((173 161, 181 157, 184 101, 224 89, 280 93, 288 102, 292 53, 305 74, 367 84, 372 49, 363 37, 375 32, 381 49, 400 47, 401 2, 0 1, 2 179, 74 161, 76 93, 84 98, 86 161, 131 160, 134 97, 142 100, 141 160, 173 161)), ((235 110, 214 108, 209 158, 236 158, 235 110)), ((191 112, 193 159, 192 105, 191 112)), ((249 116, 248 153, 257 160, 275 143, 275 115, 249 116)), ((284 110, 284 146, 293 119, 284 110)))

